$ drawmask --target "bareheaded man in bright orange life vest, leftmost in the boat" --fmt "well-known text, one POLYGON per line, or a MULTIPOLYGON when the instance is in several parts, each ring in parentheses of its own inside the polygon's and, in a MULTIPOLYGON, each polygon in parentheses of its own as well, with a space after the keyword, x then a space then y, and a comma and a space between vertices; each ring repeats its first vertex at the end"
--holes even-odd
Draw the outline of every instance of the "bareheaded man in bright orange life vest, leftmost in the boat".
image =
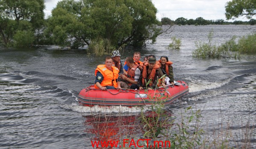
POLYGON ((120 81, 118 80, 119 69, 112 64, 112 58, 107 56, 105 58, 105 64, 97 66, 95 70, 95 88, 103 91, 106 89, 121 89, 120 81))

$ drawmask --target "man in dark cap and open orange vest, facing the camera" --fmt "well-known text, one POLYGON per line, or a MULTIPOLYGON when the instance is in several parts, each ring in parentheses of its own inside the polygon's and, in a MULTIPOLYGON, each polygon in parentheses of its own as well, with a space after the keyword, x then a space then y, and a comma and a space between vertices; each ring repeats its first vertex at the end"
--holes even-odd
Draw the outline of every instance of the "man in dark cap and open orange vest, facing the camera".
POLYGON ((165 85, 165 77, 159 65, 156 64, 156 58, 149 58, 148 63, 144 64, 142 75, 138 79, 139 89, 147 88, 149 90, 165 85), (162 77, 162 79, 160 79, 162 77), (149 83, 148 83, 149 82, 149 83))

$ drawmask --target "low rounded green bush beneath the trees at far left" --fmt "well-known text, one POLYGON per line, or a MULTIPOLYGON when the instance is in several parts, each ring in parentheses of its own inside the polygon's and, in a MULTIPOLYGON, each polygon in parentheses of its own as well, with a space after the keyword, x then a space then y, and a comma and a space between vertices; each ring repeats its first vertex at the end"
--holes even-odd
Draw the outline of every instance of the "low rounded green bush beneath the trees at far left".
POLYGON ((18 30, 13 36, 14 47, 28 47, 33 43, 34 39, 35 37, 32 31, 18 30))

